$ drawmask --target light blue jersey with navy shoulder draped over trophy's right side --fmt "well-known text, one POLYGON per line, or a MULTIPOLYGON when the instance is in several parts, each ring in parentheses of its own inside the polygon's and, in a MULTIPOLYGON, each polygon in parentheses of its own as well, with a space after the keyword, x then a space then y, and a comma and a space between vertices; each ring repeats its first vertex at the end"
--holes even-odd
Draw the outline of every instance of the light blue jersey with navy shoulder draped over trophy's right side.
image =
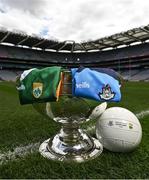
POLYGON ((72 68, 73 96, 97 101, 121 100, 118 74, 107 68, 72 68))

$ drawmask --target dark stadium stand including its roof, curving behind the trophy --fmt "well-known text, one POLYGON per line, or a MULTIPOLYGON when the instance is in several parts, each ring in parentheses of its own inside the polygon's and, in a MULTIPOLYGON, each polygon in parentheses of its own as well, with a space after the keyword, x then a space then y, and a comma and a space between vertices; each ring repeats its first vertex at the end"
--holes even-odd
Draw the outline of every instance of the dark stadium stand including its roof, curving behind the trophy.
POLYGON ((82 65, 112 68, 120 72, 125 80, 147 80, 149 79, 147 40, 149 40, 149 25, 82 43, 56 42, 0 30, 2 69, 0 78, 14 80, 14 76, 18 73, 34 67, 82 65), (8 43, 11 43, 11 46, 8 43), (137 44, 132 45, 132 43, 137 44), (121 45, 123 47, 120 47, 121 45))

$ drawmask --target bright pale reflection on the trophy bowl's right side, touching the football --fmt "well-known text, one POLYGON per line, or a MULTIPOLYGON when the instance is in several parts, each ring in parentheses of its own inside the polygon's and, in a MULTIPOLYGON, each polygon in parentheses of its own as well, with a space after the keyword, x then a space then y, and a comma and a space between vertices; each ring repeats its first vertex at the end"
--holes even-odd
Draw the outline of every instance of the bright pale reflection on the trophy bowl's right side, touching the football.
POLYGON ((89 116, 89 119, 97 119, 107 108, 107 102, 101 103, 96 106, 89 116))

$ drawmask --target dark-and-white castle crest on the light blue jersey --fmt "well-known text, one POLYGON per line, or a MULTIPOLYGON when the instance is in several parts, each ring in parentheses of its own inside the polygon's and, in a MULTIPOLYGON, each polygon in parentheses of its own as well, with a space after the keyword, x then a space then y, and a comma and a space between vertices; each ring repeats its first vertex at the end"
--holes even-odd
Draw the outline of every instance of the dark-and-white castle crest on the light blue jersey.
POLYGON ((109 86, 109 84, 107 84, 102 88, 102 92, 101 93, 99 92, 98 95, 102 100, 110 100, 114 98, 115 93, 112 92, 111 87, 109 86))

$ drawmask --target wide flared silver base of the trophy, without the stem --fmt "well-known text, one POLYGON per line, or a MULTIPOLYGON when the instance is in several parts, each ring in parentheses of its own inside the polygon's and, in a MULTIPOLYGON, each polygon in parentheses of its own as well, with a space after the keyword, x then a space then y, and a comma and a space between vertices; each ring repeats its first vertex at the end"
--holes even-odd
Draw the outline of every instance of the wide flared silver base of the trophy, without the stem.
POLYGON ((84 162, 98 157, 103 151, 103 146, 99 140, 90 137, 89 141, 91 144, 84 141, 84 143, 70 147, 60 142, 59 136, 56 135, 54 138, 44 141, 40 145, 39 152, 43 157, 51 160, 84 162))

